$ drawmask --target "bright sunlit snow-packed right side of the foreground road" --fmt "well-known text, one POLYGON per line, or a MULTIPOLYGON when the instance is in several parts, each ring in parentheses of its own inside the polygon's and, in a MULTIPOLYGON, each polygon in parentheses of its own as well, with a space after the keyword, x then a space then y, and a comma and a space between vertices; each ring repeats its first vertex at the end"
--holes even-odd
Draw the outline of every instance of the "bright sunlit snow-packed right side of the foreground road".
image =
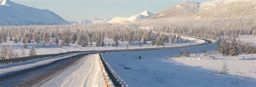
POLYGON ((86 55, 72 66, 40 82, 41 86, 105 86, 97 54, 86 55))

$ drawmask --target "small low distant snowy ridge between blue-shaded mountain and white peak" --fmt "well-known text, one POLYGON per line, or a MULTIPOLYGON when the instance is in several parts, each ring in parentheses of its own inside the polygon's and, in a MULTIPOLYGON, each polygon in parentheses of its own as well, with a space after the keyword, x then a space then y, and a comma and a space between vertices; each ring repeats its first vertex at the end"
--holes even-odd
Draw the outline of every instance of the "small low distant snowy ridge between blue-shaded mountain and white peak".
POLYGON ((105 23, 109 20, 103 20, 103 19, 91 19, 91 20, 81 20, 81 21, 72 21, 70 24, 76 25, 76 24, 92 24, 92 23, 105 23))

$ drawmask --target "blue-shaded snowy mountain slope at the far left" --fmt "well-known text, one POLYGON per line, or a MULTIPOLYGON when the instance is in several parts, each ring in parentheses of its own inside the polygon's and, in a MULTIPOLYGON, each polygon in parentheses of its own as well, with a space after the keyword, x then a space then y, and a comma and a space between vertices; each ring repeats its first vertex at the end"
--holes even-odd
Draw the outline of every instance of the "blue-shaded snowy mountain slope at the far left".
POLYGON ((0 26, 58 24, 69 23, 49 10, 39 10, 9 0, 2 0, 0 5, 0 26))

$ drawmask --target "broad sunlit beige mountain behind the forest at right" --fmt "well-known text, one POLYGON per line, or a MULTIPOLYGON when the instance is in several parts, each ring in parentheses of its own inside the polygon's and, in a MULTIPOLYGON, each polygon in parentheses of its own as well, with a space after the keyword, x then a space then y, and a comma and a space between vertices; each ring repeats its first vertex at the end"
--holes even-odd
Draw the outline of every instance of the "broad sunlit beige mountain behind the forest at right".
MULTIPOLYGON (((162 18, 211 18, 253 15, 255 0, 216 0, 211 2, 185 1, 161 11, 149 19, 162 18)), ((255 13, 255 12, 254 12, 255 13)))

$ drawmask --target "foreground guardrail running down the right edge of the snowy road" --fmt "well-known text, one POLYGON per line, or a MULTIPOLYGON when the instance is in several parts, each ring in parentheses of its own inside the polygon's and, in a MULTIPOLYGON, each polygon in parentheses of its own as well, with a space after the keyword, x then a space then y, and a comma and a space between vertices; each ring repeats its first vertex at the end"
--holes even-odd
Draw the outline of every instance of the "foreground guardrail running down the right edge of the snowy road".
POLYGON ((110 67, 109 63, 107 63, 100 52, 98 53, 100 60, 103 63, 103 66, 105 67, 106 73, 109 75, 109 77, 112 79, 112 82, 117 87, 128 87, 128 85, 124 82, 124 80, 117 75, 117 73, 110 67))

